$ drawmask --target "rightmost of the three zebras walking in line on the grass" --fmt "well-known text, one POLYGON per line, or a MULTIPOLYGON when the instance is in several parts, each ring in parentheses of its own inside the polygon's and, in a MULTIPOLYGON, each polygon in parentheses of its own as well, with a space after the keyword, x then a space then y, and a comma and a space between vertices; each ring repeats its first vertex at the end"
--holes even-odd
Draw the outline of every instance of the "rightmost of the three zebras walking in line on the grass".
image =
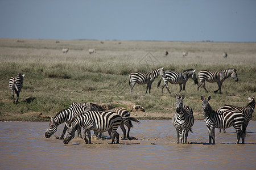
POLYGON ((214 93, 217 93, 220 90, 220 94, 222 94, 221 93, 222 83, 226 78, 229 78, 230 76, 235 80, 235 82, 238 81, 237 70, 233 68, 224 69, 221 71, 208 71, 208 70, 199 71, 198 77, 200 79, 200 82, 197 85, 197 91, 199 90, 199 87, 202 84, 203 84, 204 90, 207 91, 207 89, 205 88, 205 80, 207 80, 207 82, 209 83, 216 82, 218 84, 218 90, 214 91, 214 93))

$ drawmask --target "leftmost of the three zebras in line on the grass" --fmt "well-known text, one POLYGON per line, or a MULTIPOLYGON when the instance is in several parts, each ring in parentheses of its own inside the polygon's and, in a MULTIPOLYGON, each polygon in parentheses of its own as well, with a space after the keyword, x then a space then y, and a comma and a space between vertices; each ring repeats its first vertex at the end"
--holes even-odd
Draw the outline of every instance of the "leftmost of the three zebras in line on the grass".
MULTIPOLYGON (((150 72, 141 73, 141 72, 133 72, 129 75, 129 85, 131 87, 131 94, 133 94, 133 87, 136 83, 138 84, 147 84, 147 90, 149 89, 149 94, 151 90, 151 84, 154 82, 155 78, 159 75, 164 76, 164 67, 155 69, 150 72)), ((146 90, 146 94, 147 94, 146 90)))

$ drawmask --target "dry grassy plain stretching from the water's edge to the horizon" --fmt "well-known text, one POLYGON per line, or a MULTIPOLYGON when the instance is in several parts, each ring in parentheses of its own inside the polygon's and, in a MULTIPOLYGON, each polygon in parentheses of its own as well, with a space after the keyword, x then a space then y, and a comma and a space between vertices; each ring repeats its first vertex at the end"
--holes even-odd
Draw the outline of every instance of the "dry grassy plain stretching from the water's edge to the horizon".
MULTIPOLYGON (((247 96, 256 91, 256 43, 245 42, 170 42, 170 41, 96 41, 96 40, 35 40, 0 39, 0 120, 44 120, 27 116, 27 112, 42 112, 54 116, 74 101, 112 103, 114 107, 138 104, 145 108, 147 117, 173 114, 174 95, 185 95, 195 117, 201 114, 200 96, 212 96, 210 104, 218 109, 222 104, 245 106, 247 96), (59 41, 59 43, 56 43, 59 41), (67 54, 62 48, 69 48, 67 54), (95 48, 97 53, 89 54, 95 48), (164 55, 168 50, 168 56, 164 55), (187 57, 182 53, 188 52, 187 57), (227 58, 222 54, 228 53, 227 58), (222 70, 237 69, 238 82, 232 78, 222 84, 222 95, 214 94, 216 83, 206 83, 208 93, 187 82, 186 90, 169 83, 172 94, 157 88, 157 78, 151 94, 145 94, 146 85, 136 84, 130 94, 129 73, 185 69, 222 70), (18 104, 13 104, 9 78, 26 74, 18 104)), ((163 83, 163 81, 162 81, 163 83)), ((133 112, 132 112, 133 113, 133 112)), ((133 113, 135 114, 135 113, 133 113)), ((163 116, 164 117, 164 116, 163 116)), ((168 116, 167 116, 168 117, 168 116)), ((255 113, 254 113, 255 120, 255 113)))

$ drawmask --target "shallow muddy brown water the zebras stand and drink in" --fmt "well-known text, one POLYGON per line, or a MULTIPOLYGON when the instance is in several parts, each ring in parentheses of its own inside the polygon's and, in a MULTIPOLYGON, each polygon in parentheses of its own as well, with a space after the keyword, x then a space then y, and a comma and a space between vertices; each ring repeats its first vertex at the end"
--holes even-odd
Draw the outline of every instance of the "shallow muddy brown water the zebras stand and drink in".
POLYGON ((96 139, 86 145, 77 137, 64 145, 44 137, 48 122, 0 122, 0 169, 255 169, 256 121, 247 127, 245 145, 235 144, 234 128, 216 129, 216 145, 208 145, 204 121, 195 121, 185 145, 175 143, 170 120, 141 122, 131 130, 139 140, 121 145, 96 139))

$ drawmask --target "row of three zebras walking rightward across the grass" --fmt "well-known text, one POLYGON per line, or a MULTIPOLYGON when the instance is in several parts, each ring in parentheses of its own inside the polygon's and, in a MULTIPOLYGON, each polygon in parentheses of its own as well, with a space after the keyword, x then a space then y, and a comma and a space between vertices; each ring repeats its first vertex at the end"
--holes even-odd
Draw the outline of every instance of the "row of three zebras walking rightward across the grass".
MULTIPOLYGON (((195 71, 196 70, 194 69, 184 70, 183 72, 170 71, 170 70, 164 71, 164 67, 162 67, 146 73, 133 72, 129 75, 129 85, 131 88, 131 94, 133 93, 133 87, 135 86, 136 83, 147 84, 147 90, 149 89, 149 94, 150 94, 151 84, 152 82, 154 82, 155 78, 158 77, 159 75, 162 76, 162 79, 164 82, 162 85, 162 93, 163 93, 163 88, 166 87, 170 94, 171 92, 168 87, 168 82, 170 82, 171 84, 179 84, 180 91, 181 91, 181 90, 185 90, 185 85, 188 79, 192 78, 195 84, 197 84, 197 91, 202 85, 204 90, 207 91, 207 89, 205 88, 205 80, 206 80, 209 83, 217 83, 218 89, 214 91, 214 93, 217 93, 219 91, 220 94, 222 94, 221 86, 225 79, 231 76, 236 82, 238 81, 237 70, 233 68, 224 69, 221 71, 208 71, 208 70, 199 71, 199 73, 197 74, 200 80, 199 83, 198 83, 195 71), (183 84, 183 89, 182 89, 182 84, 183 84)), ((159 80, 158 87, 160 86, 162 79, 159 80)), ((147 94, 147 90, 146 90, 146 94, 147 94)))

